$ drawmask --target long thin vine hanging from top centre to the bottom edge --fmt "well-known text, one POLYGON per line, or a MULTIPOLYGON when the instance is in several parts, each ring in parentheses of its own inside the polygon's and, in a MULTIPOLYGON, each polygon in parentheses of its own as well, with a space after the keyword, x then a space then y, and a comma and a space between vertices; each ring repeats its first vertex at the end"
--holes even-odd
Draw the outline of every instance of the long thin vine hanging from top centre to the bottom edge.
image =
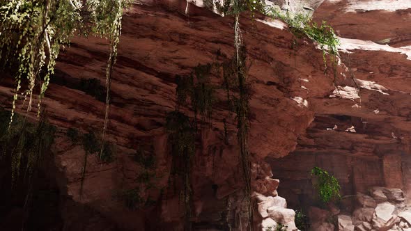
MULTIPOLYGON (((214 1, 213 1, 214 2, 214 1)), ((246 214, 248 217, 247 226, 249 230, 254 230, 254 225, 252 222, 253 209, 251 205, 251 177, 250 177, 250 158, 247 145, 248 136, 248 113, 249 113, 249 85, 247 84, 247 67, 245 63, 245 58, 247 52, 245 45, 242 40, 242 33, 240 29, 240 13, 244 11, 251 12, 254 17, 254 12, 263 9, 263 4, 261 1, 255 0, 233 0, 233 1, 223 1, 217 4, 217 10, 222 10, 223 15, 233 15, 234 17, 234 47, 235 55, 231 62, 224 64, 224 85, 226 88, 228 102, 232 102, 234 105, 235 113, 237 114, 237 129, 238 129, 238 143, 240 145, 239 162, 240 169, 242 171, 242 177, 245 182, 245 200, 242 207, 245 207, 245 211, 240 213, 246 214), (236 86, 235 90, 238 91, 238 96, 230 94, 230 79, 235 77, 236 86)), ((241 209, 242 210, 242 209, 241 209)))

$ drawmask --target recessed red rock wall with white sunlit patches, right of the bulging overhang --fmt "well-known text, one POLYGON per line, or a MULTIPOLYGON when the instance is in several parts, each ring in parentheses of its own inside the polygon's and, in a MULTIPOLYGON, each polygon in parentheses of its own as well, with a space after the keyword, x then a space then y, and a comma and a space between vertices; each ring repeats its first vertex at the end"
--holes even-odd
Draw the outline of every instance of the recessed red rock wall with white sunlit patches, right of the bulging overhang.
POLYGON ((268 158, 281 181, 279 193, 287 195, 293 208, 314 202, 309 177, 313 166, 333 173, 343 195, 366 192, 370 186, 400 188, 410 194, 411 61, 405 55, 408 49, 401 47, 411 45, 402 27, 410 24, 411 6, 366 10, 362 6, 367 2, 372 1, 325 1, 314 13, 316 21, 326 20, 341 38, 356 39, 341 39, 340 47, 362 43, 350 53, 340 51, 348 75, 336 82, 341 87, 360 86, 360 98, 341 97, 337 91, 313 99, 315 120, 298 138, 296 150, 281 159, 268 158), (403 49, 403 54, 373 48, 379 45, 403 49), (362 86, 361 81, 383 90, 362 86), (355 133, 346 132, 351 126, 355 133))

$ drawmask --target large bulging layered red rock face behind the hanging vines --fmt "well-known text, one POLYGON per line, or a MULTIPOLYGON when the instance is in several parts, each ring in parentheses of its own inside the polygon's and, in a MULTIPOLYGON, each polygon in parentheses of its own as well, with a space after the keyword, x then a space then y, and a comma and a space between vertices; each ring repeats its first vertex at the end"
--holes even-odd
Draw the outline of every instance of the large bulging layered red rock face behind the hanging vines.
MULTIPOLYGON (((183 209, 178 191, 167 188, 171 154, 164 131, 166 113, 173 111, 176 104, 175 76, 189 74, 196 65, 215 62, 217 51, 223 56, 233 55, 232 17, 220 17, 192 5, 189 15, 184 10, 184 1, 146 2, 135 4, 123 18, 107 131, 108 140, 118 145, 116 160, 100 164, 95 155, 87 157, 81 197, 84 150, 81 145, 72 145, 64 130, 54 147, 56 165, 67 178, 68 195, 109 218, 120 229, 182 227, 183 209), (157 161, 151 189, 136 182, 144 169, 132 161, 130 154, 139 149, 155 155, 157 161), (113 198, 116 191, 134 188, 142 189, 144 199, 154 199, 155 206, 130 211, 113 198)), ((240 24, 250 67, 249 151, 252 161, 258 163, 265 157, 283 157, 295 148, 297 136, 313 119, 311 99, 331 92, 333 78, 331 73, 324 74, 322 53, 310 40, 298 40, 298 47, 293 50, 293 35, 286 30, 251 20, 249 15, 243 15, 240 24), (298 104, 293 97, 302 97, 308 105, 298 104)), ((76 38, 61 52, 56 76, 42 102, 52 124, 62 129, 74 127, 81 132, 100 131, 104 103, 72 86, 80 78, 96 78, 104 83, 107 48, 104 40, 76 38)), ((195 230, 224 230, 227 201, 240 200, 238 192, 244 187, 238 165, 235 115, 224 106, 225 92, 218 88, 222 81, 222 77, 211 78, 217 87, 217 104, 210 119, 211 127, 205 125, 197 135, 192 173, 195 230)), ((0 87, 3 105, 10 106, 12 95, 11 80, 3 82, 0 87)), ((35 115, 35 111, 29 114, 32 118, 35 115)), ((253 182, 258 192, 273 186, 264 186, 270 179, 263 180, 261 176, 259 179, 261 182, 253 182)))

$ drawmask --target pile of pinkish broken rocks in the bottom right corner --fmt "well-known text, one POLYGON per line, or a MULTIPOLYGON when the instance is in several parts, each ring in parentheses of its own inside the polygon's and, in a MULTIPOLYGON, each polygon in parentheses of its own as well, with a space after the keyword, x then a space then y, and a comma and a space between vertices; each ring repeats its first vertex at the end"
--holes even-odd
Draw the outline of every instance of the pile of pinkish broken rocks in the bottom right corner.
POLYGON ((311 207, 311 230, 411 231, 411 210, 405 207, 405 195, 401 189, 372 187, 369 195, 357 193, 355 201, 352 214, 333 214, 311 207))

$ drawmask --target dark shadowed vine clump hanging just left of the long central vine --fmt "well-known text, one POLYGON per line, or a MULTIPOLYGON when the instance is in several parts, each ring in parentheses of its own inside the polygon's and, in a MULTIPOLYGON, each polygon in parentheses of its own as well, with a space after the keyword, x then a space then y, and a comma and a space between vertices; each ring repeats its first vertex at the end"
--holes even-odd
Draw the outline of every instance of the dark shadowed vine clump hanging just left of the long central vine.
POLYGON ((210 120, 215 87, 210 84, 209 76, 218 67, 217 63, 198 65, 191 74, 176 76, 176 110, 166 116, 166 132, 169 134, 172 155, 169 182, 173 182, 175 187, 176 184, 182 187, 180 201, 184 203, 185 230, 192 229, 191 172, 196 150, 197 116, 200 114, 201 122, 210 120), (193 120, 182 111, 187 101, 194 111, 193 120))

